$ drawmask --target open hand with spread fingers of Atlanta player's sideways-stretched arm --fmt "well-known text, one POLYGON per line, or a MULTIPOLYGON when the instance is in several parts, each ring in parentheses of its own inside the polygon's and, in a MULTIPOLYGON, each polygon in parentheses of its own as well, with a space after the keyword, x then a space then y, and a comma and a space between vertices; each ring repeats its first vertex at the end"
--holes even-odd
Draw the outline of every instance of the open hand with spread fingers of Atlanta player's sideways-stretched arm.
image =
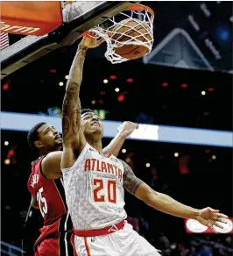
POLYGON ((200 210, 200 214, 196 219, 201 224, 208 226, 212 231, 215 231, 214 225, 222 229, 223 226, 220 223, 226 224, 228 217, 222 213, 219 213, 219 210, 214 210, 207 207, 200 210))

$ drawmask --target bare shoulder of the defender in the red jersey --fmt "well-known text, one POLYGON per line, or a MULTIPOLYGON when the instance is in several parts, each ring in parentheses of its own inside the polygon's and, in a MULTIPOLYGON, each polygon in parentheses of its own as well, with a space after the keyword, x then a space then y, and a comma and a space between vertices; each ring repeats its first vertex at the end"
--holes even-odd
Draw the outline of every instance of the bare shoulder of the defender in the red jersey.
POLYGON ((48 153, 41 162, 41 172, 46 179, 55 180, 62 177, 60 170, 60 160, 62 152, 56 151, 48 153))

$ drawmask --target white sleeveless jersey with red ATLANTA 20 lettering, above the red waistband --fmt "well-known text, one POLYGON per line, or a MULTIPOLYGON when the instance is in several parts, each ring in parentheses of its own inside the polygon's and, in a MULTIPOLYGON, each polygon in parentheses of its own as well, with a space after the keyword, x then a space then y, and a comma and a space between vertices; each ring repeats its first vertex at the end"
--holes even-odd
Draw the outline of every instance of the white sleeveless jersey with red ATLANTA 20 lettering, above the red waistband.
POLYGON ((115 156, 103 156, 87 143, 73 167, 62 173, 75 230, 102 229, 127 217, 124 166, 115 156))

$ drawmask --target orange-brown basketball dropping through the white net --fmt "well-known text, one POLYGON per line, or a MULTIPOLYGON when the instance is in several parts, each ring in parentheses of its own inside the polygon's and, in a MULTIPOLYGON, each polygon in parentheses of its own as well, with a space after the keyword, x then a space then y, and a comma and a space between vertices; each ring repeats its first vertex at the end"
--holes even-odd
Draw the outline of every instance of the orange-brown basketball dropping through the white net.
MULTIPOLYGON (((127 18, 124 19, 121 24, 116 25, 113 32, 117 32, 112 36, 112 39, 115 39, 119 42, 127 41, 131 38, 137 38, 138 40, 145 42, 151 40, 152 36, 149 34, 150 27, 146 22, 141 22, 136 18, 127 18), (131 30, 129 30, 131 26, 131 30), (129 30, 129 31, 128 31, 129 30), (126 32, 127 31, 127 32, 126 32), (119 34, 119 33, 124 33, 119 34), (145 39, 141 34, 145 35, 145 39), (140 36, 141 35, 141 36, 140 36)), ((146 53, 149 52, 149 49, 145 46, 136 46, 136 45, 125 45, 115 48, 116 54, 124 57, 128 60, 136 60, 143 57, 146 53)))

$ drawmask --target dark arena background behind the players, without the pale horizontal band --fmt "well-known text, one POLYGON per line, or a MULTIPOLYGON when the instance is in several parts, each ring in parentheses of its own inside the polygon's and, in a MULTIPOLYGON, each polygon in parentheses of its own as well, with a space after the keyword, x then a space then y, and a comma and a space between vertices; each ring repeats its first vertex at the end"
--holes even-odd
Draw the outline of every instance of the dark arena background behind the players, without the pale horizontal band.
MULTIPOLYGON (((102 45, 88 51, 81 84, 83 108, 93 108, 101 112, 104 119, 112 121, 130 120, 141 124, 232 132, 232 4, 179 3, 144 3, 156 13, 154 49, 174 29, 185 30, 210 63, 212 72, 200 64, 201 61, 197 61, 200 65, 193 65, 190 58, 174 60, 177 48, 169 48, 169 44, 164 52, 158 51, 152 58, 149 55, 144 60, 112 65, 103 58, 105 46, 102 45), (205 17, 201 16, 201 11, 205 8, 201 4, 215 14, 209 23, 202 20, 205 17), (188 15, 197 20, 202 18, 201 22, 205 24, 202 34, 192 30, 188 15), (221 60, 215 59, 204 46, 202 39, 207 36, 215 40, 217 51, 222 54, 221 60), (162 58, 168 50, 173 51, 173 58, 162 58)), ((10 44, 20 38, 11 35, 10 44)), ((177 40, 179 45, 180 37, 177 40)), ((1 84, 2 111, 59 117, 65 77, 76 48, 77 43, 63 47, 4 78, 1 84)), ((188 44, 184 48, 185 56, 193 53, 188 44)), ((196 55, 193 58, 197 58, 196 55)), ((35 159, 26 135, 27 132, 4 130, 1 140, 1 240, 18 247, 31 200, 26 182, 31 162, 35 159)), ((103 145, 109 141, 103 139, 103 145)), ((121 152, 119 158, 126 160, 138 177, 155 190, 195 208, 211 206, 232 217, 232 146, 127 139, 123 148, 126 153, 121 152)), ((152 210, 128 193, 125 197, 126 210, 131 217, 129 221, 165 255, 232 255, 230 234, 187 234, 183 219, 152 210)), ((38 235, 40 226, 39 217, 32 237, 38 235)), ((6 247, 2 242, 2 252, 3 248, 8 250, 6 247)), ((18 252, 3 252, 3 255, 16 255, 14 253, 18 252)))

